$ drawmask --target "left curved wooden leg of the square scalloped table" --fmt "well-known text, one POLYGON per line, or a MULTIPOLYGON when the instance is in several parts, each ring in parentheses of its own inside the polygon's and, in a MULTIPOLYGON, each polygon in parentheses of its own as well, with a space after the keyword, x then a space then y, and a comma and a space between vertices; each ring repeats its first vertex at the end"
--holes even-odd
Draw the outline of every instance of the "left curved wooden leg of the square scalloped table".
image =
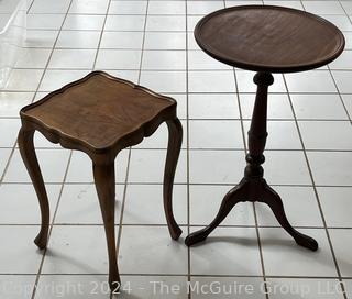
POLYGON ((45 190, 43 176, 40 165, 35 155, 35 148, 33 144, 34 130, 25 130, 23 126, 19 133, 19 147, 23 159, 23 163, 29 171, 31 180, 33 182, 36 196, 41 206, 42 226, 38 235, 35 237, 34 243, 41 248, 45 248, 47 245, 47 234, 50 226, 50 204, 45 190))

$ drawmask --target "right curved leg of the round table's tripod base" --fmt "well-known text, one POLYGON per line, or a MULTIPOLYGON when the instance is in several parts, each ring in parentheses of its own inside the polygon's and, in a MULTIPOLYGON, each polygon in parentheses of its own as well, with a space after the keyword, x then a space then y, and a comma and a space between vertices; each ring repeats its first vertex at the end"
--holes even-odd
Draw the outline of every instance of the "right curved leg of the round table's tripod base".
POLYGON ((318 250, 318 243, 316 240, 296 231, 289 224, 285 214, 283 200, 280 199, 279 195, 276 193, 275 190, 273 190, 266 184, 263 188, 263 202, 271 207, 279 224, 295 239, 298 245, 309 248, 311 251, 318 250))

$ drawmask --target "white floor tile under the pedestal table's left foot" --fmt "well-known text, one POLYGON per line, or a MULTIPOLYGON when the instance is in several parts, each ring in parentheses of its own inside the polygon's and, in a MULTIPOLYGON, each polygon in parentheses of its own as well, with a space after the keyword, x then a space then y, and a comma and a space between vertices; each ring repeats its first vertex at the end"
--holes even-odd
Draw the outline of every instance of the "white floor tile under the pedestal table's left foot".
MULTIPOLYGON (((191 231, 195 231, 191 228, 191 231)), ((191 275, 262 275, 255 229, 218 228, 190 248, 191 275)))

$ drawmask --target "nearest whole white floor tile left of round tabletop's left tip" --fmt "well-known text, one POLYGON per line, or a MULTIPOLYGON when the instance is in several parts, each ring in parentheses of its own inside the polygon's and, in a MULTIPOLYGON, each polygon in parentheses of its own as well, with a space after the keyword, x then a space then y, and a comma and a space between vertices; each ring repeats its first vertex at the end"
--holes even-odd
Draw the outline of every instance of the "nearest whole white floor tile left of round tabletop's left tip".
POLYGON ((144 49, 186 49, 184 32, 146 32, 144 49))

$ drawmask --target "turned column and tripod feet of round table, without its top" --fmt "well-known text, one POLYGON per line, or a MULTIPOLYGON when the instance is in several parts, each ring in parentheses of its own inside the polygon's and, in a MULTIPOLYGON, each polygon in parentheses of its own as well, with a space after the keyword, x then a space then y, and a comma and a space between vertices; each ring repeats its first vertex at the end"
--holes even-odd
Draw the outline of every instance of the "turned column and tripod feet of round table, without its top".
POLYGON ((295 239, 298 245, 317 251, 318 243, 305 234, 296 231, 288 222, 280 197, 267 185, 264 177, 262 164, 265 162, 263 155, 266 144, 266 119, 267 119, 267 90, 274 82, 270 73, 257 73, 254 76, 257 85, 256 98, 249 132, 248 165, 244 178, 230 190, 222 200, 216 219, 205 229, 191 233, 185 240, 186 245, 191 246, 205 241, 207 236, 226 219, 231 209, 241 201, 260 201, 270 206, 280 225, 295 239))

